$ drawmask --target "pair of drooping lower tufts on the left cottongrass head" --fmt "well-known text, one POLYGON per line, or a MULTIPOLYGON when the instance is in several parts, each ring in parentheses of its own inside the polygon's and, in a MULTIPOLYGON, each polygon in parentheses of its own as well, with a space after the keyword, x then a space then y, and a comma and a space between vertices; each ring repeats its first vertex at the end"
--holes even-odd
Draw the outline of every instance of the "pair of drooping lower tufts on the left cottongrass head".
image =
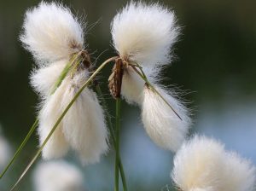
MULTIPOLYGON (((73 99, 73 96, 87 80, 89 72, 78 72, 73 78, 67 76, 55 94, 49 96, 39 115, 38 134, 40 142, 55 124, 56 120, 73 99)), ((98 162, 102 153, 108 151, 108 130, 102 107, 96 94, 85 88, 79 98, 61 121, 53 136, 43 149, 44 159, 60 158, 69 146, 79 153, 84 165, 98 162)))

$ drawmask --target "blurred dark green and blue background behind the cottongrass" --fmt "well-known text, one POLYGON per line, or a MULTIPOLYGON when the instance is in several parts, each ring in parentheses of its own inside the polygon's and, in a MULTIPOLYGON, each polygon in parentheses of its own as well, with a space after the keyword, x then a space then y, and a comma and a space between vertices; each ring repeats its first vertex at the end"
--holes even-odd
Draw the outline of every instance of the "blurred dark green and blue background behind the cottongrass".
MULTIPOLYGON (((18 40, 26 9, 32 0, 0 0, 0 123, 15 150, 35 119, 38 97, 29 86, 32 56, 18 40)), ((124 0, 63 1, 73 13, 86 16, 93 26, 86 36, 90 52, 100 64, 115 55, 110 46, 110 22, 125 6, 124 0)), ((253 0, 166 0, 175 10, 183 35, 176 44, 177 59, 166 68, 165 84, 189 90, 185 98, 193 109, 197 132, 215 137, 226 148, 256 164, 256 2, 253 0)), ((110 113, 114 102, 108 94, 110 67, 102 72, 102 87, 110 113)), ((169 177, 172 153, 157 148, 143 130, 137 107, 122 104, 121 154, 130 190, 172 190, 169 177)), ((10 168, 0 190, 7 190, 20 176, 38 147, 35 135, 10 168)), ((67 160, 84 171, 84 184, 91 191, 113 190, 113 151, 102 163, 81 166, 71 153, 67 160)), ((33 171, 33 169, 32 169, 33 171)), ((32 171, 18 190, 35 190, 32 171)))

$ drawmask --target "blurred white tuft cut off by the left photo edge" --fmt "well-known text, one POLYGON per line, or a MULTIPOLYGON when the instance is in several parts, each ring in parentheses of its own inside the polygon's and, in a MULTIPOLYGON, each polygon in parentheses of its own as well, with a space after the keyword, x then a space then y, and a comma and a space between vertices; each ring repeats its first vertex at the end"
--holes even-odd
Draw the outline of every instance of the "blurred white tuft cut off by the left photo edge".
POLYGON ((7 164, 11 154, 9 142, 3 137, 0 124, 0 169, 7 164))

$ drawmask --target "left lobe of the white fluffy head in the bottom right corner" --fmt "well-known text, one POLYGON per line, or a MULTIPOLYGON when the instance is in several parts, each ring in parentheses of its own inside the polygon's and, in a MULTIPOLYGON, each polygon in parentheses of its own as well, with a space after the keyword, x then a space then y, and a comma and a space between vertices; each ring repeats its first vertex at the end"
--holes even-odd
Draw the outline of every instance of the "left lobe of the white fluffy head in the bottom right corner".
POLYGON ((207 137, 195 136, 177 151, 172 180, 183 191, 220 190, 218 177, 223 167, 224 146, 207 137))

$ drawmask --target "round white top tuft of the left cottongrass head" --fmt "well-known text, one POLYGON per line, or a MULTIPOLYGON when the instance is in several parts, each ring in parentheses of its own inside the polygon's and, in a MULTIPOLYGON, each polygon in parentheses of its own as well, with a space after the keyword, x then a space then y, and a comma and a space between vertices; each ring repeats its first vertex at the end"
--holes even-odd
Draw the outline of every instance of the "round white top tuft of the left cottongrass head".
POLYGON ((20 40, 39 64, 68 59, 83 48, 83 28, 61 3, 42 2, 27 10, 23 29, 20 40))

